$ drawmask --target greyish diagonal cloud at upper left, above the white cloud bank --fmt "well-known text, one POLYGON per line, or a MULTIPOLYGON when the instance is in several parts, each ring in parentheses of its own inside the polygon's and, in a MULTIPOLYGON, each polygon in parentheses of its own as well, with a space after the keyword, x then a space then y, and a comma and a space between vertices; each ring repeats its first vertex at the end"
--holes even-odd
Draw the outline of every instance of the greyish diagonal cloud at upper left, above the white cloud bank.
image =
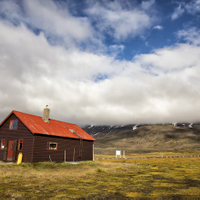
POLYGON ((102 45, 95 38, 88 18, 72 16, 67 4, 60 5, 52 0, 23 0, 19 5, 17 1, 9 0, 1 2, 0 12, 6 20, 17 25, 23 23, 33 31, 44 32, 52 44, 69 48, 90 41, 91 44, 102 45))

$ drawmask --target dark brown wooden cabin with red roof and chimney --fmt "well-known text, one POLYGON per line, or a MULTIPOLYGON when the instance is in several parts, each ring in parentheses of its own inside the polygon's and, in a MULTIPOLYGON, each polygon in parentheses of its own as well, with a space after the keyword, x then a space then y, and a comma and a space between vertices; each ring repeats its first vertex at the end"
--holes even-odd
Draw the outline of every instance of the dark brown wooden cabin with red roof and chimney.
POLYGON ((95 139, 78 125, 13 110, 0 124, 0 160, 65 162, 93 160, 95 139))

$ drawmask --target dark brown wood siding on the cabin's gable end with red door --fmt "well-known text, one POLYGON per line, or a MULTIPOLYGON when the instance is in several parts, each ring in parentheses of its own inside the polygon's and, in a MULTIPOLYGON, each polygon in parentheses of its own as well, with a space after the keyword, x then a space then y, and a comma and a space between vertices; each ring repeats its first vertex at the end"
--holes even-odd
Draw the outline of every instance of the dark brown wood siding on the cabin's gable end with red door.
MULTIPOLYGON (((14 114, 12 114, 0 127, 0 140, 18 140, 23 139, 23 147, 21 151, 16 150, 16 156, 13 156, 16 161, 19 152, 23 154, 23 162, 32 161, 32 150, 33 150, 33 134, 24 126, 24 124, 18 119, 17 130, 9 130, 10 120, 18 119, 14 114)), ((0 160, 3 160, 4 150, 0 150, 0 160)))

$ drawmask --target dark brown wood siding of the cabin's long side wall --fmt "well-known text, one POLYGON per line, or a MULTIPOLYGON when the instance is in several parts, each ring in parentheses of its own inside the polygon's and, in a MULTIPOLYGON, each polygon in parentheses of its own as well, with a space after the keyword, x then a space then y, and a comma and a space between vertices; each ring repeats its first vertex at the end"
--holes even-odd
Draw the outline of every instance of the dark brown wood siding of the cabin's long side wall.
POLYGON ((82 156, 79 155, 80 140, 61 138, 45 135, 34 135, 34 153, 33 162, 50 161, 64 162, 64 151, 66 151, 66 161, 92 160, 93 159, 93 141, 83 140, 82 156), (57 150, 48 150, 48 142, 57 142, 57 150))

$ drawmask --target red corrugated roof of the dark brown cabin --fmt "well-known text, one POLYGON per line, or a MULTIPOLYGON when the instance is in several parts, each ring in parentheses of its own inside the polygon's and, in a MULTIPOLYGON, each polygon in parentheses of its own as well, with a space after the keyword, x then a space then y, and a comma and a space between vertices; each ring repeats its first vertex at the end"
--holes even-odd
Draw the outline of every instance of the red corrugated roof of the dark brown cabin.
MULTIPOLYGON (((77 139, 81 137, 85 140, 95 140, 91 135, 86 133, 76 124, 62 122, 54 119, 50 119, 50 122, 47 123, 42 119, 42 117, 22 113, 15 110, 13 110, 8 115, 8 117, 11 114, 15 114, 19 120, 32 132, 32 134, 52 135, 77 139), (75 133, 73 133, 72 130, 74 130, 75 133)), ((1 123, 1 125, 6 121, 6 119, 1 123)))

